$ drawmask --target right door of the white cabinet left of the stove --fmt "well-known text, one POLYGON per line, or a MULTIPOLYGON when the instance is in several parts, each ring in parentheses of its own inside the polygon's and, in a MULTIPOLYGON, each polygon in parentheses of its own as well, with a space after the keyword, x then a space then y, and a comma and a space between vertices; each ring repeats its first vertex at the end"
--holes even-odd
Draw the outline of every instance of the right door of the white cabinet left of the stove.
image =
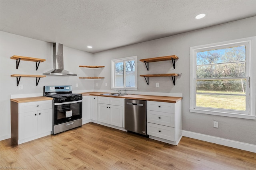
POLYGON ((52 109, 39 110, 38 116, 38 135, 52 131, 52 109))

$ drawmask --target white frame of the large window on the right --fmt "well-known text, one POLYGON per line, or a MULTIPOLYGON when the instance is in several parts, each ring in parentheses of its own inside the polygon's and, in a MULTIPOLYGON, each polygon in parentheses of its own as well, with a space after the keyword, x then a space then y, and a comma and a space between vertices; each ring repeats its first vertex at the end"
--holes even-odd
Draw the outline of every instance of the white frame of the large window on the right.
POLYGON ((252 48, 255 46, 256 37, 248 37, 243 39, 190 47, 190 112, 227 117, 238 117, 244 119, 256 119, 256 75, 252 74, 253 72, 256 72, 256 49, 252 48), (200 51, 224 49, 240 45, 246 45, 246 111, 196 107, 196 53, 200 51))

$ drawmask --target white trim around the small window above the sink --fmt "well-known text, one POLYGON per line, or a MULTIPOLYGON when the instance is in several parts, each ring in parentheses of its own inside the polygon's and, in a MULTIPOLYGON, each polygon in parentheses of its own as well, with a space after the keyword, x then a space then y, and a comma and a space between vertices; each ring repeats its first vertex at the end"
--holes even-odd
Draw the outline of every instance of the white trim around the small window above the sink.
POLYGON ((132 56, 132 57, 125 57, 125 58, 121 58, 121 59, 112 59, 110 62, 111 62, 111 89, 113 90, 113 89, 117 89, 117 90, 124 90, 124 89, 126 89, 126 90, 138 90, 138 62, 137 62, 137 60, 138 60, 138 57, 137 56, 132 56), (118 61, 129 61, 129 60, 132 60, 132 59, 134 59, 134 63, 135 63, 135 87, 114 87, 114 84, 115 84, 115 80, 114 80, 114 74, 115 74, 115 72, 114 72, 114 68, 115 68, 115 66, 114 66, 114 63, 115 62, 118 62, 118 61))

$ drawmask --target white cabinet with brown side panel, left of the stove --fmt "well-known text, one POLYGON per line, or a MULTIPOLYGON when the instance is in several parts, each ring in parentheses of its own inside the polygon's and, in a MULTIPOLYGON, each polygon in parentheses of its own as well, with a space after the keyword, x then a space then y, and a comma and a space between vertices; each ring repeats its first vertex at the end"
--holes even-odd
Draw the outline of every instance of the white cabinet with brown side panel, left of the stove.
POLYGON ((52 100, 11 102, 11 138, 21 144, 50 135, 52 107, 52 100))

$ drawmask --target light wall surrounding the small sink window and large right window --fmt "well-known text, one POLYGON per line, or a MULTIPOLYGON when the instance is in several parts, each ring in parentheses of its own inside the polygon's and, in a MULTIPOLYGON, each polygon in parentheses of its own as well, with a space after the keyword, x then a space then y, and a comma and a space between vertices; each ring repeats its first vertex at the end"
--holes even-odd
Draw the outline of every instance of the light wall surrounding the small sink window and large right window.
MULTIPOLYGON (((94 88, 110 89, 110 59, 137 55, 139 62, 138 91, 182 93, 183 130, 256 145, 255 120, 206 115, 189 111, 190 47, 252 36, 256 36, 256 17, 96 53, 94 62, 105 65, 104 72, 99 73, 105 79, 101 86, 94 86, 94 88), (179 57, 175 69, 173 69, 171 61, 162 61, 149 63, 149 71, 147 71, 145 64, 139 61, 140 59, 166 55, 177 55, 179 57), (149 78, 149 85, 147 85, 144 77, 139 76, 140 74, 160 73, 182 73, 182 75, 178 76, 175 86, 172 84, 170 77, 149 78), (105 82, 109 86, 105 87, 105 82), (159 82, 159 88, 156 88, 156 82, 159 82), (213 128, 213 120, 219 122, 218 129, 213 128)), ((256 78, 255 74, 252 76, 252 78, 256 78)), ((253 86, 255 88, 255 84, 253 86)))

